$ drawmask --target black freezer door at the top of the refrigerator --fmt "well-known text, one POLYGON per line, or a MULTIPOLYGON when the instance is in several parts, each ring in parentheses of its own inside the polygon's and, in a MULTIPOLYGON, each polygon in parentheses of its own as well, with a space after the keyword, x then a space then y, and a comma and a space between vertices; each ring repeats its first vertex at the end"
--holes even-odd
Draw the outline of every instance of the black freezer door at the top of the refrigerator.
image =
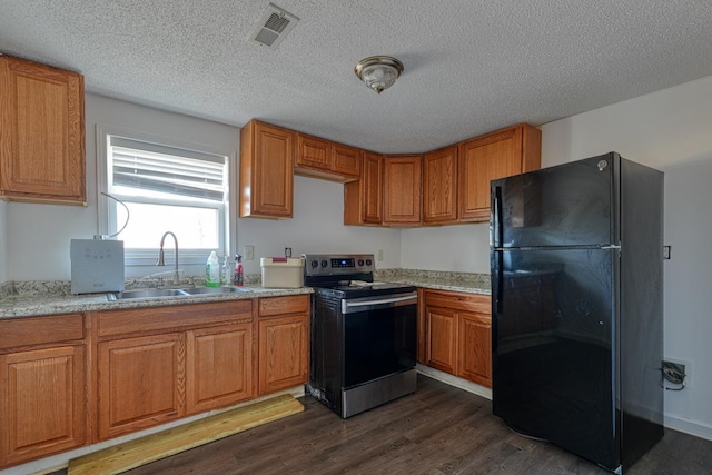
POLYGON ((617 154, 492 181, 494 247, 617 244, 617 154))

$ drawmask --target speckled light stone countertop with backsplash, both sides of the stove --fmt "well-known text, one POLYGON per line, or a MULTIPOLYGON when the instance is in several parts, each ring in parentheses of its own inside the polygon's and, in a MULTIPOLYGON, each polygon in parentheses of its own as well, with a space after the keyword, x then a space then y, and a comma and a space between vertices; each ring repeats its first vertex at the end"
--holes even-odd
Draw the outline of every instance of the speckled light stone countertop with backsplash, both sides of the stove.
MULTIPOLYGON (((377 270, 374 279, 377 281, 409 284, 432 289, 490 294, 490 276, 486 274, 385 269, 377 270)), ((258 285, 259 279, 247 279, 247 281, 248 285, 244 287, 246 291, 115 301, 110 301, 107 298, 107 294, 71 295, 70 283, 63 280, 4 283, 0 285, 0 318, 60 315, 122 308, 162 307, 168 305, 283 297, 313 293, 310 287, 264 288, 258 285)), ((132 284, 131 287, 134 289, 140 288, 136 283, 132 284)))

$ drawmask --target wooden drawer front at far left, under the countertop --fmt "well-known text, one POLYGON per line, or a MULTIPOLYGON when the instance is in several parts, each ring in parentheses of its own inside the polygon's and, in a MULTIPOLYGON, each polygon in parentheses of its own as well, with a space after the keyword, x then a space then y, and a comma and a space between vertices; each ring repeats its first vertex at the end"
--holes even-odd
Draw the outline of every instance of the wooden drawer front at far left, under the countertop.
POLYGON ((82 339, 83 327, 82 314, 0 319, 0 349, 82 339))

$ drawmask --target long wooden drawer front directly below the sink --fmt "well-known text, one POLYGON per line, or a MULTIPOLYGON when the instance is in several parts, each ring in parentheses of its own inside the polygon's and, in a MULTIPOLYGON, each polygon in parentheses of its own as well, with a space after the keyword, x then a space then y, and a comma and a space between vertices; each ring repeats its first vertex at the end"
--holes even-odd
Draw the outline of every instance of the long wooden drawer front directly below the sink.
POLYGON ((167 329, 180 330, 211 324, 251 320, 253 299, 108 310, 97 315, 99 337, 167 329))

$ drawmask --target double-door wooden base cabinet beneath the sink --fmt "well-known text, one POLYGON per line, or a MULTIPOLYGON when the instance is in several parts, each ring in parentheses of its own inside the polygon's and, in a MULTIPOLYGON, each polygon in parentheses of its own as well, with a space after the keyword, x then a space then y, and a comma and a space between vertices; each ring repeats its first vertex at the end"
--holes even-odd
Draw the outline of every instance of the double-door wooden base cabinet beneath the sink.
POLYGON ((96 438, 254 397, 254 301, 92 314, 96 438))

